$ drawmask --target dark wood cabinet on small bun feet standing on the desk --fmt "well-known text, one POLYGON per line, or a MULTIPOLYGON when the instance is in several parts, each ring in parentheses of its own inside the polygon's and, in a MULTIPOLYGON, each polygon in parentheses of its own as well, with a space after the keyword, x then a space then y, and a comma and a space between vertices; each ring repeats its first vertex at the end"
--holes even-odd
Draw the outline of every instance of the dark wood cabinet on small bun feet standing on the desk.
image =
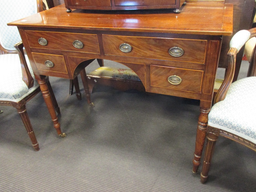
POLYGON ((185 0, 64 0, 65 6, 70 9, 93 10, 136 10, 136 9, 175 9, 180 12, 180 7, 185 0))

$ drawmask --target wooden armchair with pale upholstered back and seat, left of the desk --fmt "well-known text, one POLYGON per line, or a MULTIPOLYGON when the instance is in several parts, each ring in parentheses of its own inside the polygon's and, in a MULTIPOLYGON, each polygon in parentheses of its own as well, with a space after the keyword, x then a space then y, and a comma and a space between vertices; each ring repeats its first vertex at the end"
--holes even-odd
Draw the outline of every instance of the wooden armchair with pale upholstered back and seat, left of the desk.
MULTIPOLYGON (((42 1, 1 0, 0 7, 2 8, 0 17, 0 105, 13 106, 17 109, 32 145, 38 151, 39 145, 25 105, 40 92, 40 87, 35 80, 29 60, 24 54, 23 43, 20 41, 17 27, 9 27, 6 24, 41 11, 42 1)), ((59 107, 49 81, 47 81, 47 85, 55 109, 59 114, 59 107)))

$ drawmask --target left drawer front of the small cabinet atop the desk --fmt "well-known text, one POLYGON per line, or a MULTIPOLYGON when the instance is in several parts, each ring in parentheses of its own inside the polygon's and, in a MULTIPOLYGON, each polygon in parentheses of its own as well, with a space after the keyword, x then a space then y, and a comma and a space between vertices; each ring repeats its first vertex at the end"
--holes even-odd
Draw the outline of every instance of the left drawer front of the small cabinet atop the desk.
POLYGON ((111 6, 111 0, 66 0, 69 6, 111 6))

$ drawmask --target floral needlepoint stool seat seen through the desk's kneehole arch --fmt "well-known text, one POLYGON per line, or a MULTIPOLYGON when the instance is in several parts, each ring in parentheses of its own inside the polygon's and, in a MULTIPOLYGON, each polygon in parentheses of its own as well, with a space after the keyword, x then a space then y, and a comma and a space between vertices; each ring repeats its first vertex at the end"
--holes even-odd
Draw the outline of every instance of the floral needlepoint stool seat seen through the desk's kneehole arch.
POLYGON ((137 74, 131 69, 120 69, 112 67, 100 67, 88 74, 89 76, 113 77, 120 79, 132 79, 140 81, 137 74))

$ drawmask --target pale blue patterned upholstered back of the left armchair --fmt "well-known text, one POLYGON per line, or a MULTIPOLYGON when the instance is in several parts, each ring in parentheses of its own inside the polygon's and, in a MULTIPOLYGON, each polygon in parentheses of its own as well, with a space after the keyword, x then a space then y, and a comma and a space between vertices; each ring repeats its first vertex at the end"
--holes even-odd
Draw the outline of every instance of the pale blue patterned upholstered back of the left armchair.
POLYGON ((21 38, 17 27, 7 26, 7 23, 37 13, 37 2, 36 0, 1 0, 0 7, 0 44, 5 49, 15 50, 14 45, 21 41, 21 38))

